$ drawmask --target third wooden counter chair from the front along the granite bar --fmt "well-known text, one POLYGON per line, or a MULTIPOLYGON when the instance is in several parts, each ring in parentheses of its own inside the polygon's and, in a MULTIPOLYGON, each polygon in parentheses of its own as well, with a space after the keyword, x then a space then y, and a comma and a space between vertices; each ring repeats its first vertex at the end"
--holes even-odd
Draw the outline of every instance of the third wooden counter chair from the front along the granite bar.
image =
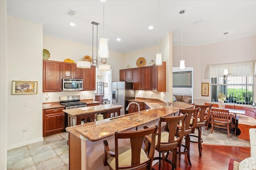
MULTIPOLYGON (((181 151, 181 147, 179 147, 179 151, 177 151, 177 154, 186 154, 188 158, 188 163, 190 166, 192 166, 190 162, 190 134, 195 133, 196 129, 196 123, 197 123, 197 117, 198 117, 198 111, 199 108, 196 109, 179 109, 178 110, 178 116, 186 114, 187 117, 185 119, 185 131, 184 131, 184 137, 185 137, 185 145, 182 144, 182 147, 184 147, 184 150, 181 151), (190 124, 192 122, 192 124, 190 124)), ((177 136, 180 135, 180 130, 177 131, 177 136)))

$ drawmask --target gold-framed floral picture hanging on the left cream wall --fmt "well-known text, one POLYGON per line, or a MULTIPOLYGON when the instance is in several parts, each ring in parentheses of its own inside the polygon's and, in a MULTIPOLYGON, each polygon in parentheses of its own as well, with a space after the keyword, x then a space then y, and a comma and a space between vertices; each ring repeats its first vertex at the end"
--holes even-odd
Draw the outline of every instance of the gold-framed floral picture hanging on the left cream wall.
POLYGON ((37 94, 37 82, 12 81, 12 94, 37 94))

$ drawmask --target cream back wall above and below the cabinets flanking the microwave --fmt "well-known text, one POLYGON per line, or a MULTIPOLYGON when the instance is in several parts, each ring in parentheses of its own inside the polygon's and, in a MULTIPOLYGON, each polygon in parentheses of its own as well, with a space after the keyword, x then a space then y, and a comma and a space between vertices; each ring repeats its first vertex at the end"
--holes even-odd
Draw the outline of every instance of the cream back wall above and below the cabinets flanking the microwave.
MULTIPOLYGON (((50 52, 50 59, 52 61, 64 61, 65 59, 72 59, 75 62, 82 59, 85 55, 92 56, 92 47, 64 39, 50 37, 43 35, 43 49, 50 52)), ((94 47, 94 56, 96 55, 96 47, 94 47)), ((110 64, 112 70, 112 80, 119 81, 119 70, 122 69, 124 55, 110 51, 107 64, 110 64)), ((96 57, 94 57, 96 59, 96 57)), ((98 59, 100 60, 100 58, 98 59)), ((98 72, 96 72, 96 76, 98 72)), ((96 78, 96 81, 97 78, 96 78)), ((111 78, 110 78, 111 81, 111 78)), ((110 84, 110 83, 108 83, 110 84)), ((105 90, 105 89, 104 89, 105 90)), ((108 90, 108 89, 106 89, 108 90)), ((44 92, 42 102, 45 101, 46 95, 49 96, 47 102, 58 102, 60 96, 80 95, 81 99, 94 99, 94 91, 76 91, 76 92, 44 92)), ((105 96, 104 96, 105 97, 105 96)))

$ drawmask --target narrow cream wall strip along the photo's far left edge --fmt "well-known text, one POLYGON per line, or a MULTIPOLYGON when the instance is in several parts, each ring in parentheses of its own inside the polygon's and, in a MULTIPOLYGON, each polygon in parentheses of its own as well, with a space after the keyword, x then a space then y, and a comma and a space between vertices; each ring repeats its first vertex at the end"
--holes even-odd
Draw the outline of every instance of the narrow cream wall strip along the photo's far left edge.
POLYGON ((0 1, 0 170, 7 166, 7 18, 6 1, 0 1))

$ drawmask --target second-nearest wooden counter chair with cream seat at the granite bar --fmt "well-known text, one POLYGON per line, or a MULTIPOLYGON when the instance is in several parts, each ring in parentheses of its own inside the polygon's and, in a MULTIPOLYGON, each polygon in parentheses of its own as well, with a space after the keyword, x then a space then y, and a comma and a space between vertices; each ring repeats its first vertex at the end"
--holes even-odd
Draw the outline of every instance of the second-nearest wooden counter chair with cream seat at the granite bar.
MULTIPOLYGON (((180 116, 174 116, 174 117, 160 117, 159 119, 159 130, 156 135, 156 150, 159 152, 158 157, 154 157, 154 160, 159 160, 159 170, 161 167, 162 162, 162 170, 164 170, 164 162, 168 162, 172 164, 172 170, 176 168, 177 163, 177 156, 176 156, 176 149, 178 147, 181 147, 182 145, 182 139, 184 135, 185 130, 185 119, 187 114, 180 115, 180 116), (161 131, 162 124, 168 124, 169 131, 161 131), (180 130, 180 135, 177 137, 176 132, 180 130), (172 151, 172 161, 169 160, 168 154, 164 156, 164 153, 172 151), (162 154, 162 156, 161 156, 162 154)), ((148 127, 144 127, 148 128, 148 127)), ((145 146, 151 146, 154 145, 154 139, 148 138, 145 140, 145 146)), ((151 148, 150 148, 151 149, 151 148)))

